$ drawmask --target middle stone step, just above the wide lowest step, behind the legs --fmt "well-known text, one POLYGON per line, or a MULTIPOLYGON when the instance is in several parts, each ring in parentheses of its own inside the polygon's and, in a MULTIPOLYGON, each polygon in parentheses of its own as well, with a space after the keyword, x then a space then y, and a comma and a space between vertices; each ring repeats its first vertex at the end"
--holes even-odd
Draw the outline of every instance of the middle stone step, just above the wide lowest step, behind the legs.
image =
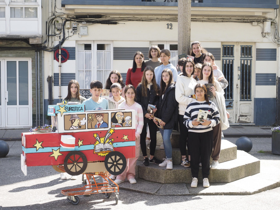
MULTIPOLYGON (((175 133, 175 132, 173 132, 173 133, 175 133)), ((161 139, 161 141, 162 141, 162 139, 161 139)), ((222 139, 219 163, 236 159, 236 151, 237 151, 237 147, 235 144, 222 139)), ((147 154, 150 154, 150 149, 148 149, 148 148, 147 148, 147 154)), ((187 152, 187 154, 188 154, 188 152, 187 152)), ((156 146, 155 156, 159 160, 162 160, 163 158, 165 158, 166 156, 165 156, 164 149, 159 149, 159 146, 156 146)), ((143 161, 141 149, 140 149, 140 156, 139 156, 138 160, 143 161)), ((173 165, 181 164, 181 152, 180 152, 179 148, 172 148, 172 161, 173 161, 173 165)), ((212 158, 210 158, 210 163, 212 163, 212 158)))

